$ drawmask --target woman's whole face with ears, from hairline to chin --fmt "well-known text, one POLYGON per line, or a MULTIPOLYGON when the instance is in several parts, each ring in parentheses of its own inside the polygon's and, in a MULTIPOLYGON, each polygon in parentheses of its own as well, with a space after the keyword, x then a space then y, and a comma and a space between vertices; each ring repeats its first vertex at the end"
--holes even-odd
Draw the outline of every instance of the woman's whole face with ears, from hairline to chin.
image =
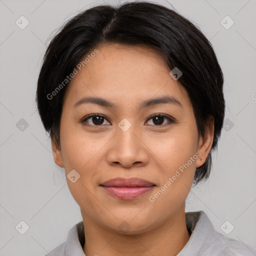
POLYGON ((120 44, 97 50, 66 91, 54 160, 65 169, 83 220, 140 233, 184 212, 195 168, 211 142, 198 137, 188 95, 157 53, 120 44), (98 101, 77 104, 84 97, 98 101), (162 97, 165 102, 156 100, 162 97), (133 181, 107 186, 115 178, 133 181))

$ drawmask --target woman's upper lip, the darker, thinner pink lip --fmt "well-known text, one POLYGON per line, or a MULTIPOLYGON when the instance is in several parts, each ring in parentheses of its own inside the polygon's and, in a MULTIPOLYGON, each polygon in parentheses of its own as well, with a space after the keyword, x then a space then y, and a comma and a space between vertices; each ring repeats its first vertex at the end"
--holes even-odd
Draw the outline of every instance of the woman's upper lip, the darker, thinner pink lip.
POLYGON ((142 178, 113 178, 105 181, 104 183, 100 184, 102 186, 154 186, 155 184, 144 180, 142 178))

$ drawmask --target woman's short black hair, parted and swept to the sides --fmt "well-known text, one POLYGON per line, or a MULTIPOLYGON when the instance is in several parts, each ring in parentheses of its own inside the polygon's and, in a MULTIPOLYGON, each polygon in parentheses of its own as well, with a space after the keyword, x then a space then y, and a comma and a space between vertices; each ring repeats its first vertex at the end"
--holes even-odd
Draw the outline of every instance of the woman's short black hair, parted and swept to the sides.
POLYGON ((192 103, 199 135, 204 135, 208 117, 214 117, 212 147, 205 162, 196 168, 194 183, 206 179, 211 151, 217 146, 223 125, 223 74, 211 43, 200 29, 160 4, 136 1, 98 5, 79 12, 59 28, 45 51, 36 91, 38 112, 51 139, 60 147, 67 75, 85 54, 103 43, 146 45, 164 58, 170 70, 181 70, 178 82, 192 103))

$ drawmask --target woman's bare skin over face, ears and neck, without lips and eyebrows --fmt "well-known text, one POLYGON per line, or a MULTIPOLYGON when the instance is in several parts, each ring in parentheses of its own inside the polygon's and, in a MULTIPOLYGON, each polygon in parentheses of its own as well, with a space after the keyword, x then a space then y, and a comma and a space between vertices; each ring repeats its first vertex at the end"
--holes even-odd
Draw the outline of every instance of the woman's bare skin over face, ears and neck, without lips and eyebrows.
POLYGON ((52 139, 55 163, 64 167, 66 175, 72 169, 80 174, 74 183, 67 178, 67 184, 81 210, 86 239, 83 251, 87 256, 176 255, 189 239, 184 202, 195 168, 210 151, 213 119, 209 119, 204 137, 199 137, 187 92, 172 79, 157 52, 142 45, 116 43, 97 49, 66 91, 60 147, 52 139), (138 110, 141 101, 163 95, 176 98, 182 106, 161 103, 138 110), (92 103, 73 107, 84 96, 102 97, 117 107, 92 103), (81 122, 91 113, 105 116, 101 126, 92 118, 81 122), (163 118, 157 125, 149 117, 159 113, 174 121, 163 118), (126 131, 118 126, 123 118, 131 124, 126 131), (150 202, 149 196, 198 151, 200 156, 150 202), (155 186, 138 198, 122 200, 99 186, 116 177, 138 177, 155 186), (119 228, 123 221, 129 229, 125 233, 119 228))

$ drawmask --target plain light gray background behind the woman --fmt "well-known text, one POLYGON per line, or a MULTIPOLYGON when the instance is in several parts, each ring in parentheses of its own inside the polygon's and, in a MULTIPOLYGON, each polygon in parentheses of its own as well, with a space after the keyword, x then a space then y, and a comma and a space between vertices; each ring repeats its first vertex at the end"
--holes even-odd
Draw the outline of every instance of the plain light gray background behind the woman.
MULTIPOLYGON (((228 237, 256 247, 256 0, 155 2, 171 3, 210 39, 224 73, 225 118, 234 124, 223 129, 210 178, 190 191, 186 211, 205 211, 221 233, 228 220, 228 237), (229 29, 220 23, 226 15, 234 21, 229 29)), ((53 161, 35 90, 47 38, 98 3, 0 0, 0 255, 44 255, 82 220, 53 161), (29 21, 24 29, 15 24, 21 15, 29 21), (23 131, 16 127, 21 118, 28 123, 23 131), (23 235, 15 229, 21 220, 29 226, 23 235)))

